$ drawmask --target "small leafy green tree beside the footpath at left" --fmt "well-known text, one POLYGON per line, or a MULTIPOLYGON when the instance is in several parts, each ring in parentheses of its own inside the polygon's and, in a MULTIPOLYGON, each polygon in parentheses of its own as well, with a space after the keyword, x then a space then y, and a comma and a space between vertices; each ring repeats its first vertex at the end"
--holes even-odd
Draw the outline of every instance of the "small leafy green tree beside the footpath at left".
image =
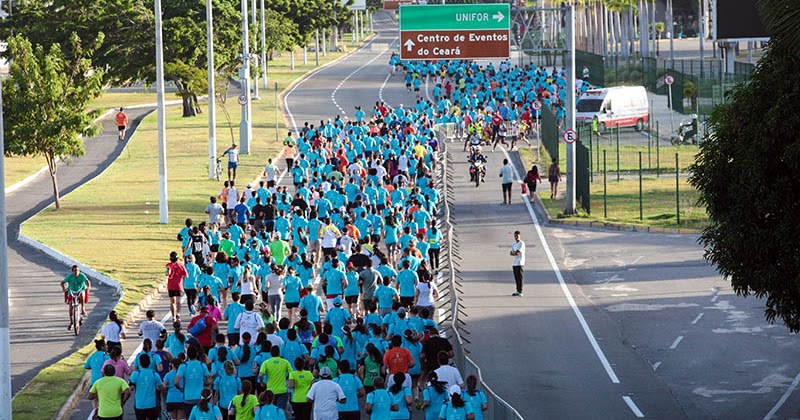
POLYGON ((6 154, 43 156, 53 183, 56 209, 61 208, 57 159, 85 153, 81 136, 94 136, 99 111, 87 111, 103 88, 102 70, 92 67, 92 54, 103 42, 100 33, 89 45, 69 38, 68 58, 59 44, 48 50, 17 35, 8 40, 9 77, 3 83, 6 154))

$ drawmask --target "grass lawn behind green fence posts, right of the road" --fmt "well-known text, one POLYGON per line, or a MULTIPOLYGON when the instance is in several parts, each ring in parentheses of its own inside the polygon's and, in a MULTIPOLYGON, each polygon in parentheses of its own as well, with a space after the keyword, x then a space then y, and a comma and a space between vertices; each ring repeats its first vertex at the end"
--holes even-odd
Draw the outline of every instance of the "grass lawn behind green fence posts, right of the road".
MULTIPOLYGON (((687 146, 675 147, 682 157, 687 158, 688 154, 696 153, 691 150, 684 150, 687 146)), ((646 147, 645 147, 646 148, 646 147)), ((547 211, 551 217, 565 218, 563 215, 566 202, 563 196, 563 183, 559 185, 562 190, 560 198, 551 200, 549 198, 549 184, 546 179, 547 165, 549 162, 547 153, 542 153, 542 159, 538 162, 540 172, 544 174, 541 188, 537 188, 539 196, 542 198, 547 211)), ((566 170, 566 161, 563 158, 566 153, 560 151, 562 162, 560 167, 566 170)), ((662 172, 660 177, 656 177, 655 172, 645 173, 642 177, 642 219, 639 218, 639 177, 638 177, 638 154, 636 154, 636 172, 623 173, 620 181, 617 181, 616 171, 608 171, 606 174, 606 199, 605 206, 603 200, 603 173, 595 173, 594 180, 590 184, 591 194, 591 214, 587 214, 582 209, 578 209, 577 216, 567 219, 595 220, 611 223, 625 223, 646 226, 660 226, 666 228, 683 229, 702 229, 708 223, 708 216, 704 208, 697 205, 698 193, 691 187, 686 177, 681 174, 678 179, 678 191, 680 192, 680 224, 677 220, 677 203, 675 193, 675 151, 672 151, 671 173, 662 172), (604 213, 605 209, 605 213, 604 213), (604 216, 604 214, 606 216, 604 216)), ((520 149, 520 155, 526 167, 530 166, 534 160, 533 153, 529 149, 520 149)), ((608 156, 607 156, 608 157, 608 156)), ((643 158, 643 161, 645 158, 643 158)), ((693 159, 692 159, 693 161, 693 159)), ((646 161, 645 161, 646 162, 646 161)), ((615 156, 616 163, 616 156, 615 156)), ((602 165, 602 158, 601 158, 602 165)), ((624 165, 621 165, 625 167, 624 165)), ((680 164, 684 169, 684 165, 680 164)), ((608 164, 607 164, 608 167, 608 164)))

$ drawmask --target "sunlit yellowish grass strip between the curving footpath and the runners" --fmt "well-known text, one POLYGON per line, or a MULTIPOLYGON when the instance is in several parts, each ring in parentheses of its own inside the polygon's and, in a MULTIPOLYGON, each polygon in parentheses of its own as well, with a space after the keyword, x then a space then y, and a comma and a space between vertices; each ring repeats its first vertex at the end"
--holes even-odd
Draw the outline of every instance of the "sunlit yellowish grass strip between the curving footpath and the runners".
MULTIPOLYGON (((353 48, 348 45, 348 50, 353 48)), ((320 64, 344 53, 320 56, 320 64)), ((295 54, 296 57, 299 54, 295 54)), ((313 70, 314 60, 303 66, 296 60, 289 68, 284 54, 269 63, 269 86, 261 100, 253 101, 251 154, 242 156, 237 178, 241 184, 252 179, 268 157, 280 149, 275 141, 274 86, 282 91, 292 81, 313 70)), ((206 106, 205 104, 201 104, 206 106)), ((234 138, 238 143, 239 110, 229 99, 234 138)), ((167 175, 169 180, 170 224, 158 223, 158 155, 156 115, 142 122, 127 150, 95 180, 62 199, 62 209, 52 207, 25 224, 25 234, 63 252, 106 275, 119 280, 125 296, 116 310, 127 313, 161 280, 169 252, 178 250, 175 240, 187 217, 205 218, 208 196, 220 184, 208 179, 207 109, 195 118, 182 118, 180 107, 167 108, 167 175)), ((283 119, 278 122, 279 138, 285 136, 283 119)), ((230 143, 221 106, 217 106, 218 154, 230 143)), ((93 346, 62 359, 37 375, 14 400, 15 419, 52 418, 64 405, 83 376, 83 362, 93 346)))

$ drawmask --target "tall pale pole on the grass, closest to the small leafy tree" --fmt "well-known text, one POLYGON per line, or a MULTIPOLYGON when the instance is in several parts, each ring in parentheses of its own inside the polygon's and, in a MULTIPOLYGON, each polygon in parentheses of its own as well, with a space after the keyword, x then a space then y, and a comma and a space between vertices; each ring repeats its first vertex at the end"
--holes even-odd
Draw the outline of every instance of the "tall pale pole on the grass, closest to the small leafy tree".
POLYGON ((164 42, 161 35, 161 0, 155 0, 156 15, 156 102, 158 103, 158 218, 169 223, 167 203, 167 113, 164 108, 164 42))

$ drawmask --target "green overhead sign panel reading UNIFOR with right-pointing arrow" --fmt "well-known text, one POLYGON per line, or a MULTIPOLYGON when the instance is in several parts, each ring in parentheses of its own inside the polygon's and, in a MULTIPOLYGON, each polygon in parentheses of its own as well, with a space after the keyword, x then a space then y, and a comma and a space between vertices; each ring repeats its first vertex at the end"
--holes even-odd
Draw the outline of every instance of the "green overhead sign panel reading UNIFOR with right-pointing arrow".
POLYGON ((511 25, 508 3, 400 5, 400 31, 506 29, 511 25))

